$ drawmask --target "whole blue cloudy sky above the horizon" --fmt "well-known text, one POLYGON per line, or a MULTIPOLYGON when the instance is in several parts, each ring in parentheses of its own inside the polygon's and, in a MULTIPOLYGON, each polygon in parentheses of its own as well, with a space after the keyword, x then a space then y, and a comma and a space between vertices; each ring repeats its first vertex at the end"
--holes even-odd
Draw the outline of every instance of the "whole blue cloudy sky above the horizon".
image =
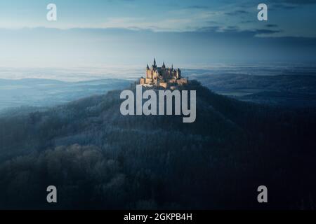
POLYGON ((1 0, 0 66, 315 62, 315 14, 316 0, 1 0))

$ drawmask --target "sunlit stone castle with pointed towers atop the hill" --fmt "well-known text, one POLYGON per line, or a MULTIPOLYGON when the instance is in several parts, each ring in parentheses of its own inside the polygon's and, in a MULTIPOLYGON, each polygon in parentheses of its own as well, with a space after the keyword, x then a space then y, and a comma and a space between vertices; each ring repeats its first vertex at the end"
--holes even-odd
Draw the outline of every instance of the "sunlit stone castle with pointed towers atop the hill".
POLYGON ((178 85, 185 85, 187 83, 187 78, 181 77, 180 69, 173 69, 173 66, 167 68, 164 63, 161 67, 158 67, 156 59, 154 59, 154 64, 152 64, 151 68, 147 64, 145 78, 140 78, 140 85, 164 87, 165 89, 175 89, 178 85))

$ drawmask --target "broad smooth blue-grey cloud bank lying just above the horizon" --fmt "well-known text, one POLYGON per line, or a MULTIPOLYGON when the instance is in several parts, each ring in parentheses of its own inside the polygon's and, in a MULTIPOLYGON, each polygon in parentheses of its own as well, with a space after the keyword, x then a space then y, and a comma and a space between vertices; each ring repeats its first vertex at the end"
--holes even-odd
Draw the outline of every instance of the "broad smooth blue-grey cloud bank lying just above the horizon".
POLYGON ((6 66, 69 67, 138 64, 153 56, 176 64, 316 59, 316 38, 273 36, 281 31, 275 28, 239 28, 214 25, 199 31, 178 32, 114 28, 0 29, 0 48, 4 51, 0 62, 6 66))

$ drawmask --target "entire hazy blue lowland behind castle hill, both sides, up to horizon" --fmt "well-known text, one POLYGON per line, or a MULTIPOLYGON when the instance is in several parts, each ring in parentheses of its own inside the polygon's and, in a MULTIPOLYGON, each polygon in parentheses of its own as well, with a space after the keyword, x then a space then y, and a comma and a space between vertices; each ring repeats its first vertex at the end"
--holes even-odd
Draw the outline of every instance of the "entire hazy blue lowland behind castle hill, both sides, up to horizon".
MULTIPOLYGON (((17 111, 20 106, 56 106, 93 94, 123 89, 139 78, 145 68, 121 69, 104 69, 102 72, 98 71, 98 75, 81 69, 0 69, 0 77, 37 77, 0 79, 0 116, 4 111, 17 111), (51 79, 42 79, 43 77, 51 79), (63 81, 53 80, 54 78, 63 81)), ((242 101, 293 108, 316 108, 315 66, 226 65, 182 71, 183 77, 198 80, 213 92, 242 101)))

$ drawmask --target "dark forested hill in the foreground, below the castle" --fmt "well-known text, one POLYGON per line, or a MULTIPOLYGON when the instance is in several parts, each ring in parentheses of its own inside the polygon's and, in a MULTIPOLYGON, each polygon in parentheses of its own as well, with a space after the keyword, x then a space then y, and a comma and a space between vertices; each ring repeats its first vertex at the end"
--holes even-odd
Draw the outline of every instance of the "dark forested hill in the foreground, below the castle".
POLYGON ((315 207, 315 109, 239 102, 194 80, 185 88, 197 90, 195 123, 121 116, 120 91, 0 118, 0 208, 315 207), (57 205, 46 203, 49 185, 57 205))

